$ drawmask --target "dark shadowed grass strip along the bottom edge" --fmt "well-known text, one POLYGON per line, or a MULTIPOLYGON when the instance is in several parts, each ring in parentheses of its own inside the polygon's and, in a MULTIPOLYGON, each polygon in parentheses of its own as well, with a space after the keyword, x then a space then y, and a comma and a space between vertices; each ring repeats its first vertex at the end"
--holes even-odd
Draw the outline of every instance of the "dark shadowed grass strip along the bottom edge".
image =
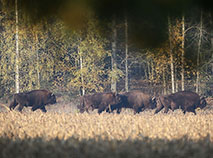
POLYGON ((103 140, 101 138, 67 140, 42 138, 0 138, 1 158, 211 158, 210 138, 198 141, 187 137, 176 140, 143 138, 142 140, 103 140))

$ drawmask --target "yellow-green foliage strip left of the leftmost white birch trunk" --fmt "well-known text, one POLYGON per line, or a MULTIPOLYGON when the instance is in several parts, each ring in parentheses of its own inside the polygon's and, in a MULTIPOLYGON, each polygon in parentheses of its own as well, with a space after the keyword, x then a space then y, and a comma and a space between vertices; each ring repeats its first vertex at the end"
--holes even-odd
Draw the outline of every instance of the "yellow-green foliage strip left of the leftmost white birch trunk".
POLYGON ((12 91, 10 87, 14 84, 15 75, 14 21, 8 16, 10 13, 6 15, 4 12, 0 12, 0 21, 2 22, 2 31, 0 32, 0 97, 12 91))

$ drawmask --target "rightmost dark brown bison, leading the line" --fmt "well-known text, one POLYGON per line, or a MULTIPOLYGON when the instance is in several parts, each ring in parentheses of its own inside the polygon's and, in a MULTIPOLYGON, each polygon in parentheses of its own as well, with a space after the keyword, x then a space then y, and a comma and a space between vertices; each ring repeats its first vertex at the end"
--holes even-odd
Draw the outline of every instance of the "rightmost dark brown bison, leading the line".
POLYGON ((205 106, 206 100, 204 97, 200 98, 200 96, 195 92, 181 91, 170 95, 158 97, 157 109, 155 113, 158 113, 163 108, 165 108, 165 113, 167 113, 169 109, 172 109, 172 111, 174 111, 175 109, 181 108, 184 114, 186 113, 186 111, 196 114, 196 108, 200 107, 202 109, 205 106))

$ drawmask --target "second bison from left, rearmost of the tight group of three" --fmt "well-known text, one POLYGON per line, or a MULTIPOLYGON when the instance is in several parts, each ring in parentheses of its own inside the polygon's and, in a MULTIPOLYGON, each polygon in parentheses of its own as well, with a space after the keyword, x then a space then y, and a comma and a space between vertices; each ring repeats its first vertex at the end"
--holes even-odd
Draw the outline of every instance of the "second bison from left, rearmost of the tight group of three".
POLYGON ((109 111, 111 105, 118 104, 119 102, 120 97, 117 93, 95 93, 81 96, 78 109, 80 109, 81 113, 84 111, 89 112, 89 109, 98 109, 98 113, 100 114, 104 110, 109 111))

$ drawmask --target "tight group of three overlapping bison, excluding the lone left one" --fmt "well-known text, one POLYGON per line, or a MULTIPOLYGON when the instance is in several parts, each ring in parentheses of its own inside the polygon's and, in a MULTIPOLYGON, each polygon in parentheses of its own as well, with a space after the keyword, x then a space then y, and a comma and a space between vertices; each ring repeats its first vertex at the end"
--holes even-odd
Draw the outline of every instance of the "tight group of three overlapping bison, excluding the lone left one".
POLYGON ((130 91, 125 93, 96 93, 80 97, 80 105, 78 109, 80 112, 89 112, 89 109, 98 109, 100 114, 102 111, 113 112, 117 110, 120 113, 122 108, 131 108, 134 114, 139 113, 145 109, 154 109, 155 114, 165 109, 165 113, 169 109, 182 109, 185 114, 193 112, 196 114, 196 108, 204 108, 207 105, 204 97, 200 97, 197 93, 190 91, 181 91, 170 95, 159 97, 151 97, 141 91, 130 91))

